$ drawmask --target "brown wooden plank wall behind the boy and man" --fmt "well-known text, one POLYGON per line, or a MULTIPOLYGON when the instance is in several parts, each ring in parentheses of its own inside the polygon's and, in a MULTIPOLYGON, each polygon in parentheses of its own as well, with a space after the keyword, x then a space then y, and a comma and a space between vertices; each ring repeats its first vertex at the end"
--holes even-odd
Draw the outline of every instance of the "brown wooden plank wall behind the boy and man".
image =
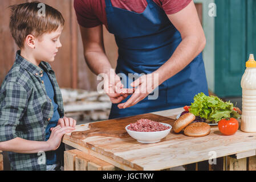
MULTIPOLYGON (((0 5, 0 84, 2 84, 7 72, 14 63, 15 53, 18 50, 9 30, 10 5, 31 2, 31 0, 1 0, 0 5)), ((73 7, 74 0, 42 0, 52 7, 58 9, 64 19, 65 25, 60 37, 62 48, 55 57, 52 68, 55 71, 60 87, 96 90, 97 80, 94 73, 87 67, 83 55, 83 44, 79 26, 73 7)), ((200 19, 202 20, 202 6, 196 5, 200 19)), ((107 57, 112 65, 116 67, 118 57, 115 38, 109 34, 104 27, 104 46, 107 57)))

